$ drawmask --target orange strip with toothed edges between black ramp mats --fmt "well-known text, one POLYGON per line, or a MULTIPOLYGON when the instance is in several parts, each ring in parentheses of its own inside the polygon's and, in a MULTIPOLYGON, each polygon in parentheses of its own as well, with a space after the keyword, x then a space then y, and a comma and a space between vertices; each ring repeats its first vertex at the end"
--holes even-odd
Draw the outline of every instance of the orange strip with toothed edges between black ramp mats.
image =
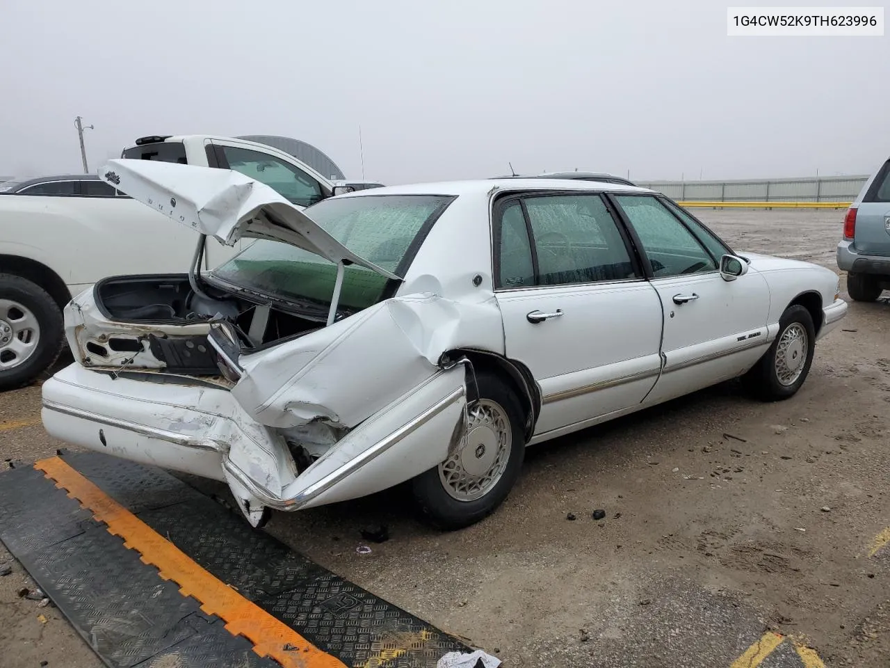
POLYGON ((40 460, 34 468, 44 471, 57 487, 93 512, 97 520, 108 525, 110 534, 120 536, 125 547, 139 552, 143 562, 156 566, 162 578, 176 582, 182 596, 195 597, 204 612, 226 622, 225 628, 232 635, 250 640, 259 656, 269 656, 284 668, 346 668, 336 656, 322 652, 287 624, 217 580, 59 457, 40 460))

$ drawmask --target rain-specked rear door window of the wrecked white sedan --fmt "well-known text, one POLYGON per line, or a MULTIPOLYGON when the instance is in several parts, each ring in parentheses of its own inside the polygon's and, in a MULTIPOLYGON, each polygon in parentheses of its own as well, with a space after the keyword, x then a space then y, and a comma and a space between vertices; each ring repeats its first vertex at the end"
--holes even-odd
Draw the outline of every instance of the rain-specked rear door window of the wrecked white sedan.
POLYGON ((618 225, 598 194, 514 200, 500 216, 499 250, 501 288, 639 278, 618 225), (526 221, 533 251, 525 246, 526 221))

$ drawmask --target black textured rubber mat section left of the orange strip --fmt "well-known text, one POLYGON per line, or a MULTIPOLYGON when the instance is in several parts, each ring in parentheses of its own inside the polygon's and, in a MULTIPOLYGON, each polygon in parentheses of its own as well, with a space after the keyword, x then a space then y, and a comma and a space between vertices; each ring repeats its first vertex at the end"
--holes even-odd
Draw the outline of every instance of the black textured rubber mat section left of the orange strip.
POLYGON ((272 668, 34 468, 0 475, 0 540, 109 666, 272 668), (239 663, 240 662, 240 663, 239 663))

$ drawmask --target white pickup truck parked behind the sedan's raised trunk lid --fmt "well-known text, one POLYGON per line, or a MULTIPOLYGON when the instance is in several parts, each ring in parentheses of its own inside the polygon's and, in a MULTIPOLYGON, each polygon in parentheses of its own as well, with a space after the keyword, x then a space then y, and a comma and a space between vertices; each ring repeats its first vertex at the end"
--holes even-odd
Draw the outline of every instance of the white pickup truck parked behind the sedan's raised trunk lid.
MULTIPOLYGON (((234 169, 301 207, 350 187, 335 185, 285 151, 206 134, 149 136, 123 158, 234 169)), ((0 185, 0 391, 27 385, 63 343, 61 309, 106 276, 181 273, 193 232, 92 175, 0 185)), ((207 244, 212 268, 239 250, 207 244)))

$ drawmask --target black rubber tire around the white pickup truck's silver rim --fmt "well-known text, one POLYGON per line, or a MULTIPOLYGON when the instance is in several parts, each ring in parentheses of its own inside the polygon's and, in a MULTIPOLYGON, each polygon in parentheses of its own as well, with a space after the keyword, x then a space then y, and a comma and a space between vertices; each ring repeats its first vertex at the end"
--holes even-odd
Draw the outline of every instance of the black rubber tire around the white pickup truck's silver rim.
MULTIPOLYGON (((16 353, 11 349, 4 350, 4 343, 0 342, 0 361, 12 363, 9 369, 0 369, 0 391, 24 387, 33 382, 41 373, 50 368, 58 359, 64 342, 64 321, 61 309, 43 288, 36 283, 28 281, 9 273, 0 273, 0 304, 11 301, 24 306, 31 314, 34 314, 39 327, 39 335, 34 352, 29 354, 21 363, 15 363, 16 353)), ((14 316, 22 313, 20 310, 9 308, 0 309, 0 339, 4 338, 3 328, 9 322, 14 322, 14 316)))

